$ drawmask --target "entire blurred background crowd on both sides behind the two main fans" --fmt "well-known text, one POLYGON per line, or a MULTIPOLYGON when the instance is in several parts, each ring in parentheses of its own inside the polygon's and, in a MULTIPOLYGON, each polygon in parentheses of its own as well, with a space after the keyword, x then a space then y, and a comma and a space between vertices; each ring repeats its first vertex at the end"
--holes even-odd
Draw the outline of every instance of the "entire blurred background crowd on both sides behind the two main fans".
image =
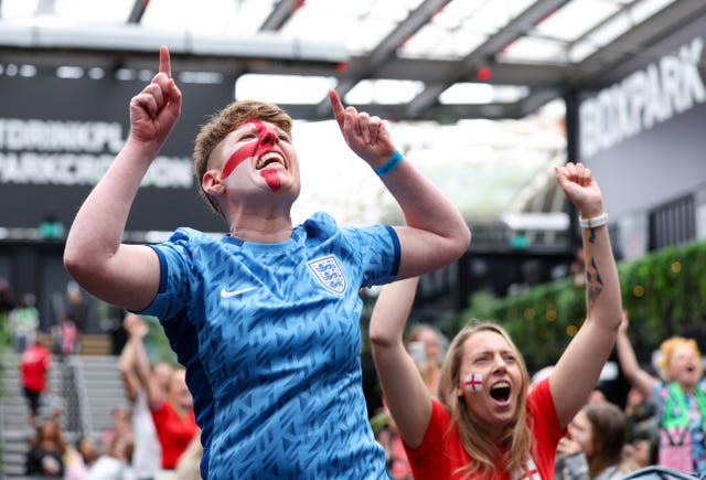
MULTIPOLYGON (((62 431, 61 408, 40 415, 52 356, 77 353, 72 342, 78 333, 68 317, 53 331, 42 332, 34 303, 32 295, 13 303, 7 282, 0 281, 2 320, 18 354, 28 423, 34 431, 26 474, 68 480, 200 478, 203 450, 184 370, 167 362, 149 364, 143 345, 148 328, 137 314, 124 318, 127 341, 119 374, 125 398, 117 401, 113 423, 103 435, 69 442, 62 431)), ((625 313, 617 342, 620 367, 630 383, 624 407, 607 401, 598 390, 589 397, 559 441, 556 479, 613 480, 650 466, 706 473, 706 381, 698 345, 692 339, 666 339, 649 373, 632 351, 628 326, 625 313)), ((436 395, 448 340, 431 326, 414 324, 405 344, 424 383, 436 395)), ((550 370, 544 369, 536 377, 550 370)), ((385 448, 389 474, 395 480, 411 479, 403 440, 385 408, 376 437, 385 448)))

